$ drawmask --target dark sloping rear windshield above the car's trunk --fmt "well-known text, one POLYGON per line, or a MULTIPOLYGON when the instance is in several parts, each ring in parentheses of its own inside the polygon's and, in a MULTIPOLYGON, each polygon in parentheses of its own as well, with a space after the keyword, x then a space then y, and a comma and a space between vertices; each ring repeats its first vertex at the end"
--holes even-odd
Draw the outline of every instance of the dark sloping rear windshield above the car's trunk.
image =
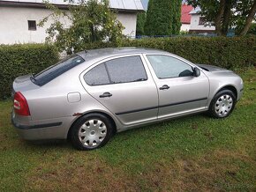
POLYGON ((40 73, 31 77, 31 81, 35 85, 45 85, 52 79, 60 76, 67 70, 71 70, 73 67, 83 63, 85 60, 79 55, 72 55, 63 61, 50 66, 46 70, 42 70, 40 73))

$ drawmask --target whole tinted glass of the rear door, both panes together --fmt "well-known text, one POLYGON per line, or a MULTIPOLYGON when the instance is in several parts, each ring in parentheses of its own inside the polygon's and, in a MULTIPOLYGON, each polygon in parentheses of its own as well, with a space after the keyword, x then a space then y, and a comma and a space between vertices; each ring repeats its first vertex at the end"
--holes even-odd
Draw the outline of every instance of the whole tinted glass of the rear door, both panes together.
POLYGON ((87 85, 108 85, 147 80, 140 56, 112 59, 89 70, 84 76, 87 85))

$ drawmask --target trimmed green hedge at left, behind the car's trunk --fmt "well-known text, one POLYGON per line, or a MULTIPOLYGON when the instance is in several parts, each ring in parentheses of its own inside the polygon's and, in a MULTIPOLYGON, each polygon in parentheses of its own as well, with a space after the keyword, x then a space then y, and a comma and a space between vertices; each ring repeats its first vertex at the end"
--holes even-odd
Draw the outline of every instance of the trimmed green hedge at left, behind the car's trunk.
POLYGON ((0 45, 0 100, 10 97, 14 78, 37 73, 57 61, 56 48, 50 45, 0 45))

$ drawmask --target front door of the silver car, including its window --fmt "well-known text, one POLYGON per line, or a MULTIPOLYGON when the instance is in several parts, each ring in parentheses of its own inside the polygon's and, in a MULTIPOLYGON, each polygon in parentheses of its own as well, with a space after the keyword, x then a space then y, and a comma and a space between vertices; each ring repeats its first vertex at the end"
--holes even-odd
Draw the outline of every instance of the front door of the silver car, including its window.
POLYGON ((145 56, 159 93, 158 118, 206 109, 209 82, 202 71, 195 77, 192 65, 176 56, 145 56))

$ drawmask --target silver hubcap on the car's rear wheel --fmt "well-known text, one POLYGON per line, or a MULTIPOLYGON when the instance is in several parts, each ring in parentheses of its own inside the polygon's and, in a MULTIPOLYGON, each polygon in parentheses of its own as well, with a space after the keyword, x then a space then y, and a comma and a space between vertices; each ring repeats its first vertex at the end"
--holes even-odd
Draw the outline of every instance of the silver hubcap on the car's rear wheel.
POLYGON ((79 140, 88 147, 97 147, 107 135, 107 127, 98 119, 88 120, 79 129, 79 140))

